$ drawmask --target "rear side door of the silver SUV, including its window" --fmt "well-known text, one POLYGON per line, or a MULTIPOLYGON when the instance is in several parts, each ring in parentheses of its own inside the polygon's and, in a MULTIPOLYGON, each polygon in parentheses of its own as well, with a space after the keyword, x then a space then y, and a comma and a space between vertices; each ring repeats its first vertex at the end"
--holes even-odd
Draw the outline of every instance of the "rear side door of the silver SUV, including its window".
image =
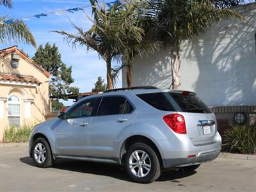
POLYGON ((89 150, 92 157, 116 156, 116 148, 122 136, 131 133, 135 110, 125 97, 103 97, 97 116, 89 127, 89 150))

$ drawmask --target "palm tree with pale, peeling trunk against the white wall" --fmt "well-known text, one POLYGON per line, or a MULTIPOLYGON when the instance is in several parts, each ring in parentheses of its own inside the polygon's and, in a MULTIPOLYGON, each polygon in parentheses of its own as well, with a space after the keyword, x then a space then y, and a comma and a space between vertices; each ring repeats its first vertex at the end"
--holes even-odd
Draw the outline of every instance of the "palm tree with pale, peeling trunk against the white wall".
MULTIPOLYGON (((235 10, 218 9, 207 0, 150 1, 148 17, 153 18, 156 39, 170 50, 172 84, 180 86, 180 44, 204 33, 212 24, 227 19, 244 19, 235 10)), ((153 31, 153 30, 152 30, 153 31)))

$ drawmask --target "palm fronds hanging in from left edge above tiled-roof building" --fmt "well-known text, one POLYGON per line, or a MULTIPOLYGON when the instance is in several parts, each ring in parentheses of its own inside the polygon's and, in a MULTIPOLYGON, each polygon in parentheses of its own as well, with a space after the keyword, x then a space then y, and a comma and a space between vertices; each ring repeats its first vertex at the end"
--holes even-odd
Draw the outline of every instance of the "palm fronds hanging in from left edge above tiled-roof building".
MULTIPOLYGON (((11 0, 0 0, 0 5, 1 4, 8 8, 12 8, 11 0)), ((15 42, 32 44, 36 47, 35 39, 24 22, 21 20, 13 20, 8 16, 2 16, 0 17, 0 44, 5 44, 12 40, 15 42), (5 23, 4 20, 9 20, 10 24, 5 23)))

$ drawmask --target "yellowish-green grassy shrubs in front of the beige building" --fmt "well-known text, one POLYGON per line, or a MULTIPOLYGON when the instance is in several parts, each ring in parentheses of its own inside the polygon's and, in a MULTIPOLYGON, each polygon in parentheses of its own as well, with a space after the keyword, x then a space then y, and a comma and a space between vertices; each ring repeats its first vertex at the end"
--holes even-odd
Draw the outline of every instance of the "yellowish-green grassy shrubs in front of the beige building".
POLYGON ((27 142, 33 126, 10 127, 4 131, 4 142, 18 143, 27 142))

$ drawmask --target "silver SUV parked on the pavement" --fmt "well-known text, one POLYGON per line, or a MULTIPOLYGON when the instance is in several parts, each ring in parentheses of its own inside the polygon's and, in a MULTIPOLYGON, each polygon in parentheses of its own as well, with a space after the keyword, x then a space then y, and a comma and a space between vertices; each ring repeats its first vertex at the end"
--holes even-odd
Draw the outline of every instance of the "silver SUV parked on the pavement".
POLYGON ((79 100, 36 125, 29 154, 36 166, 79 159, 125 166, 136 182, 168 168, 195 170, 220 154, 216 118, 193 92, 136 87, 79 100))

